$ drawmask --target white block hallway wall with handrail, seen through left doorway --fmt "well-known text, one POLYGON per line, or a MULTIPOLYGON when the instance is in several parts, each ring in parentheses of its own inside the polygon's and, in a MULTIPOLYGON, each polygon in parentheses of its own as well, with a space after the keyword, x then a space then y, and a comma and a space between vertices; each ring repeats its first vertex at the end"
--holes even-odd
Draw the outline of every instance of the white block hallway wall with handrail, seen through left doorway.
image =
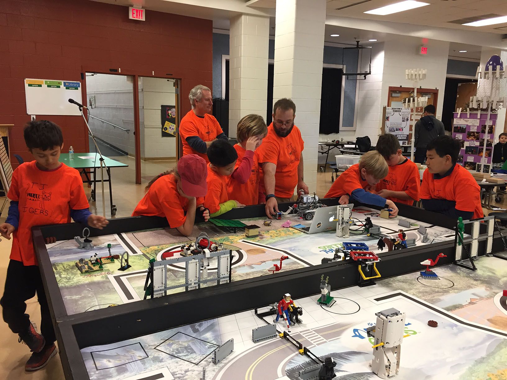
POLYGON ((127 134, 119 128, 90 118, 89 125, 98 138, 134 155, 134 110, 132 82, 123 75, 96 74, 86 77, 87 103, 95 95, 95 108, 90 114, 122 128, 130 129, 127 134))

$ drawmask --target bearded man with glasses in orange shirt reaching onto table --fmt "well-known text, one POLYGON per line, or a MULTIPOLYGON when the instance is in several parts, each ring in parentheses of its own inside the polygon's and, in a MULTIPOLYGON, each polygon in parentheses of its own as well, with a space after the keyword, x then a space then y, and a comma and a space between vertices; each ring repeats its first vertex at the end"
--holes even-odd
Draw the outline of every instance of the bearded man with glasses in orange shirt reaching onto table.
POLYGON ((266 202, 266 215, 272 219, 278 213, 278 202, 295 200, 294 188, 308 194, 303 180, 304 141, 301 131, 294 125, 296 104, 283 98, 273 106, 273 122, 268 135, 259 146, 259 163, 262 163, 263 181, 259 186, 259 201, 266 202))

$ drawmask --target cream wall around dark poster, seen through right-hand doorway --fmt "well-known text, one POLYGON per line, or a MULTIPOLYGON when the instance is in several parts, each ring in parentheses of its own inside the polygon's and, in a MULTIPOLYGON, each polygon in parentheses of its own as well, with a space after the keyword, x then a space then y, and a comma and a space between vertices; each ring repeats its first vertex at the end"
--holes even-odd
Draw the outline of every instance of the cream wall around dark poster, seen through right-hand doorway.
POLYGON ((144 113, 141 129, 144 130, 143 159, 176 157, 176 138, 161 137, 161 108, 175 105, 173 82, 162 78, 141 78, 143 101, 139 100, 144 113))

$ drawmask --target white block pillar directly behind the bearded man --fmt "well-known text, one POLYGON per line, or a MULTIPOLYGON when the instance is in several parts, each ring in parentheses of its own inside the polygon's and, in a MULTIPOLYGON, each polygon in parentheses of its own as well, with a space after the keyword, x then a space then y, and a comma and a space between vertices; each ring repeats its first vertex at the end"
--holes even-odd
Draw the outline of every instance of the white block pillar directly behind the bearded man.
POLYGON ((292 98, 305 141, 304 179, 315 191, 325 1, 277 2, 273 101, 292 98))

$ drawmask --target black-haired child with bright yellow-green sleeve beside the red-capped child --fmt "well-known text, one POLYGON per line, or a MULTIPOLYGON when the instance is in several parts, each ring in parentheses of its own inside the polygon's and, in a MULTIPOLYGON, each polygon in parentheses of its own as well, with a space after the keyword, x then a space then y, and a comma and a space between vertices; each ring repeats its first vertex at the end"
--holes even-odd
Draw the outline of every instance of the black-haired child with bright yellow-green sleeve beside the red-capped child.
POLYGON ((208 192, 204 205, 209 209, 209 216, 215 217, 244 206, 238 201, 229 200, 227 196, 227 177, 234 172, 238 154, 227 140, 215 140, 208 150, 208 192))

